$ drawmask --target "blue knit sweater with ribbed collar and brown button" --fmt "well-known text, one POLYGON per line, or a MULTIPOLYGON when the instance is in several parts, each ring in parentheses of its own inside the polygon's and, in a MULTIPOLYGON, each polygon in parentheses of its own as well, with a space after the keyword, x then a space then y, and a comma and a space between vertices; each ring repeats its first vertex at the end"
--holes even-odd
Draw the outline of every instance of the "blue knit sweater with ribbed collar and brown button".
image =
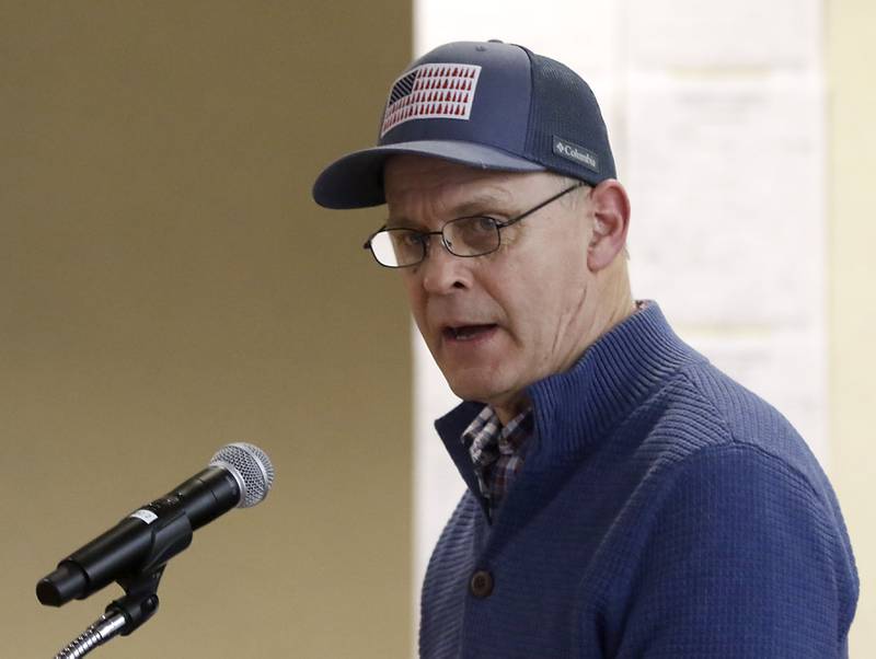
POLYGON ((423 588, 425 658, 848 656, 857 574, 834 494, 774 408, 650 303, 529 389, 535 433, 493 524, 468 485, 423 588))

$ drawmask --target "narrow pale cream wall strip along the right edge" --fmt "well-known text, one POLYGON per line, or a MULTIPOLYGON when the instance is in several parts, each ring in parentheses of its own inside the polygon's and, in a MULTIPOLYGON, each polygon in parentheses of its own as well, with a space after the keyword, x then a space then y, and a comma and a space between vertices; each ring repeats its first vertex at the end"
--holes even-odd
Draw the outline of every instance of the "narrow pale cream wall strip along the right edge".
POLYGON ((851 656, 876 657, 876 7, 827 3, 831 477, 861 576, 851 656))

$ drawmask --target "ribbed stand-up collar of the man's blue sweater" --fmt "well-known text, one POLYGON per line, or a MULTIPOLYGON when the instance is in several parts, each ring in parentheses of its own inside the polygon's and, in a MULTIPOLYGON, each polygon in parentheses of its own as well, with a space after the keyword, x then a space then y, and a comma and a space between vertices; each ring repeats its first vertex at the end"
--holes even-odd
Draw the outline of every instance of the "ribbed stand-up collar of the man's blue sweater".
MULTIPOLYGON (((597 339, 568 371, 528 388, 535 437, 527 460, 543 466, 586 451, 611 430, 667 377, 685 362, 702 359, 666 321, 656 302, 597 339)), ((450 456, 473 492, 477 481, 460 441, 482 403, 464 402, 435 423, 450 456)))

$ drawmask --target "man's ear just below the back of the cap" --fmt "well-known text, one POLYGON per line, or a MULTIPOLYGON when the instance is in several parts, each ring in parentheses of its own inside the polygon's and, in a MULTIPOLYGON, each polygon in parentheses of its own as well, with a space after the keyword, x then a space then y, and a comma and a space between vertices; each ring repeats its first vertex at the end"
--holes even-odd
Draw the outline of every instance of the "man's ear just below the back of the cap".
POLYGON ((607 178, 590 192, 593 235, 587 247, 587 267, 599 271, 614 262, 626 245, 630 197, 614 178, 607 178))

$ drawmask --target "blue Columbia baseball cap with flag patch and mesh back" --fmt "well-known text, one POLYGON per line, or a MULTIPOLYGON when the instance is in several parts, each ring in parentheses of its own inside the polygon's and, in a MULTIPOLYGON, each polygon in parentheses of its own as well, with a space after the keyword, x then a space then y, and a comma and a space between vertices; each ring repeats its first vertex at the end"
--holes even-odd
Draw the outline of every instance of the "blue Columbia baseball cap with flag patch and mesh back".
POLYGON ((383 165, 428 155, 484 170, 614 178, 593 92, 565 65, 502 42, 454 42, 412 62, 390 90, 377 147, 330 164, 313 185, 326 208, 385 203, 383 165))

